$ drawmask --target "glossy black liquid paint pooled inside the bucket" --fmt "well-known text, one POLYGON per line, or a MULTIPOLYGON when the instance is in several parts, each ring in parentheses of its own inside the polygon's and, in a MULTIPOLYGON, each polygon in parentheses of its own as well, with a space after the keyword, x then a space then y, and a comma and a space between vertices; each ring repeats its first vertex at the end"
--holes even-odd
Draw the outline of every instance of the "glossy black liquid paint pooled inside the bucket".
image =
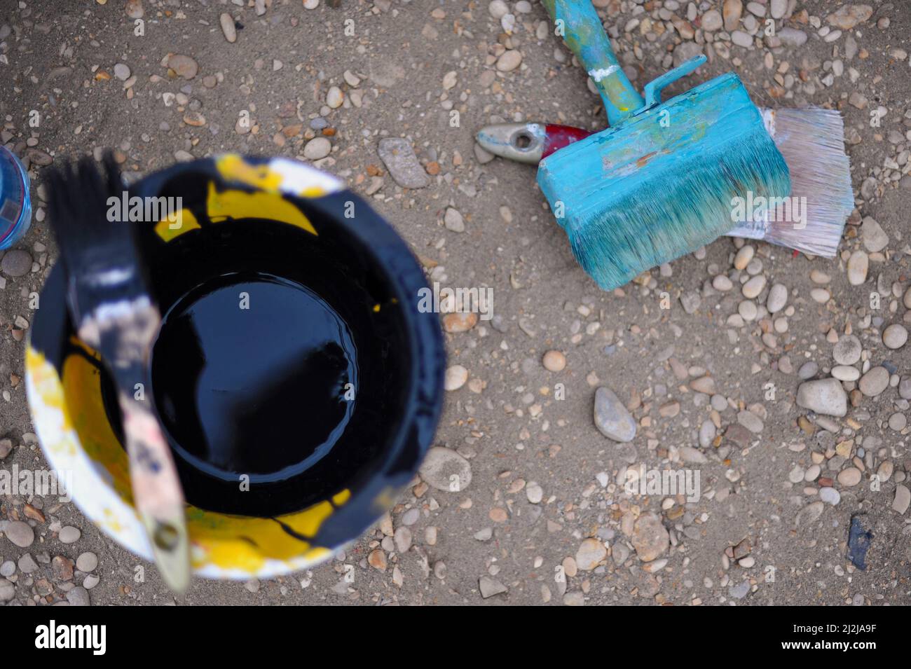
POLYGON ((237 486, 281 481, 339 441, 359 386, 348 325, 312 290, 229 274, 162 319, 152 353, 159 417, 183 467, 237 486))

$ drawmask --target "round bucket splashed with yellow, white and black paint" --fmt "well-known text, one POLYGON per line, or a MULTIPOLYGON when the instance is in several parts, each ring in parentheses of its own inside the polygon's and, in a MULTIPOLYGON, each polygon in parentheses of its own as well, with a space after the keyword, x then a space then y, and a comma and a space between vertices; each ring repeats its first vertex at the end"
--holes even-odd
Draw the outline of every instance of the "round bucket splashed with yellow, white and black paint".
MULTIPOLYGON (((439 419, 445 350, 414 256, 334 177, 282 158, 180 164, 108 204, 112 220, 157 221, 138 237, 162 327, 152 387, 135 390, 171 442, 194 572, 328 559, 394 504, 439 419)), ((113 386, 65 289, 56 267, 29 329, 36 432, 87 518, 150 559, 113 386)))

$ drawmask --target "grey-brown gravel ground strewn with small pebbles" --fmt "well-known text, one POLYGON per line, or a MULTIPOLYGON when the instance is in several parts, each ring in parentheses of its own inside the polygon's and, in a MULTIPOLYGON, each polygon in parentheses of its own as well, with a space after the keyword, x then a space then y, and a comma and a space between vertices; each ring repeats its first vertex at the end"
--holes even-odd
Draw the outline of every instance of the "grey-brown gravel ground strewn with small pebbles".
POLYGON ((721 238, 599 291, 534 170, 473 138, 606 125, 537 3, 0 2, 2 141, 36 199, 0 258, 5 470, 44 466, 23 357, 56 258, 55 159, 113 147, 130 177, 227 150, 307 159, 370 198, 433 280, 494 294, 494 319, 445 320, 435 452, 466 460, 466 490, 427 473, 330 563, 177 600, 150 565, 135 583, 137 558, 72 503, 4 494, 0 602, 911 603, 911 5, 595 4, 639 86, 701 51, 696 81, 734 70, 760 105, 842 111, 856 208, 838 258, 721 238), (769 15, 775 35, 756 36, 769 15), (394 137, 420 168, 384 162, 394 137), (630 494, 640 464, 699 472, 699 499, 630 494))

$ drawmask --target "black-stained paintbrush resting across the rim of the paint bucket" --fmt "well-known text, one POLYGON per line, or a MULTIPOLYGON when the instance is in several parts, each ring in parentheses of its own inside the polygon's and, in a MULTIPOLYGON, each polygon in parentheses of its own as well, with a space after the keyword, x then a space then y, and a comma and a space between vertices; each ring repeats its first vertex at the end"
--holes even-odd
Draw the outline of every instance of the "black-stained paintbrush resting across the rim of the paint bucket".
POLYGON ((168 441, 141 388, 159 329, 132 224, 107 218, 108 198, 126 189, 114 158, 102 175, 90 157, 48 177, 49 218, 67 273, 67 306, 79 339, 101 354, 117 386, 133 502, 162 578, 182 592, 189 583, 184 497, 168 441))

